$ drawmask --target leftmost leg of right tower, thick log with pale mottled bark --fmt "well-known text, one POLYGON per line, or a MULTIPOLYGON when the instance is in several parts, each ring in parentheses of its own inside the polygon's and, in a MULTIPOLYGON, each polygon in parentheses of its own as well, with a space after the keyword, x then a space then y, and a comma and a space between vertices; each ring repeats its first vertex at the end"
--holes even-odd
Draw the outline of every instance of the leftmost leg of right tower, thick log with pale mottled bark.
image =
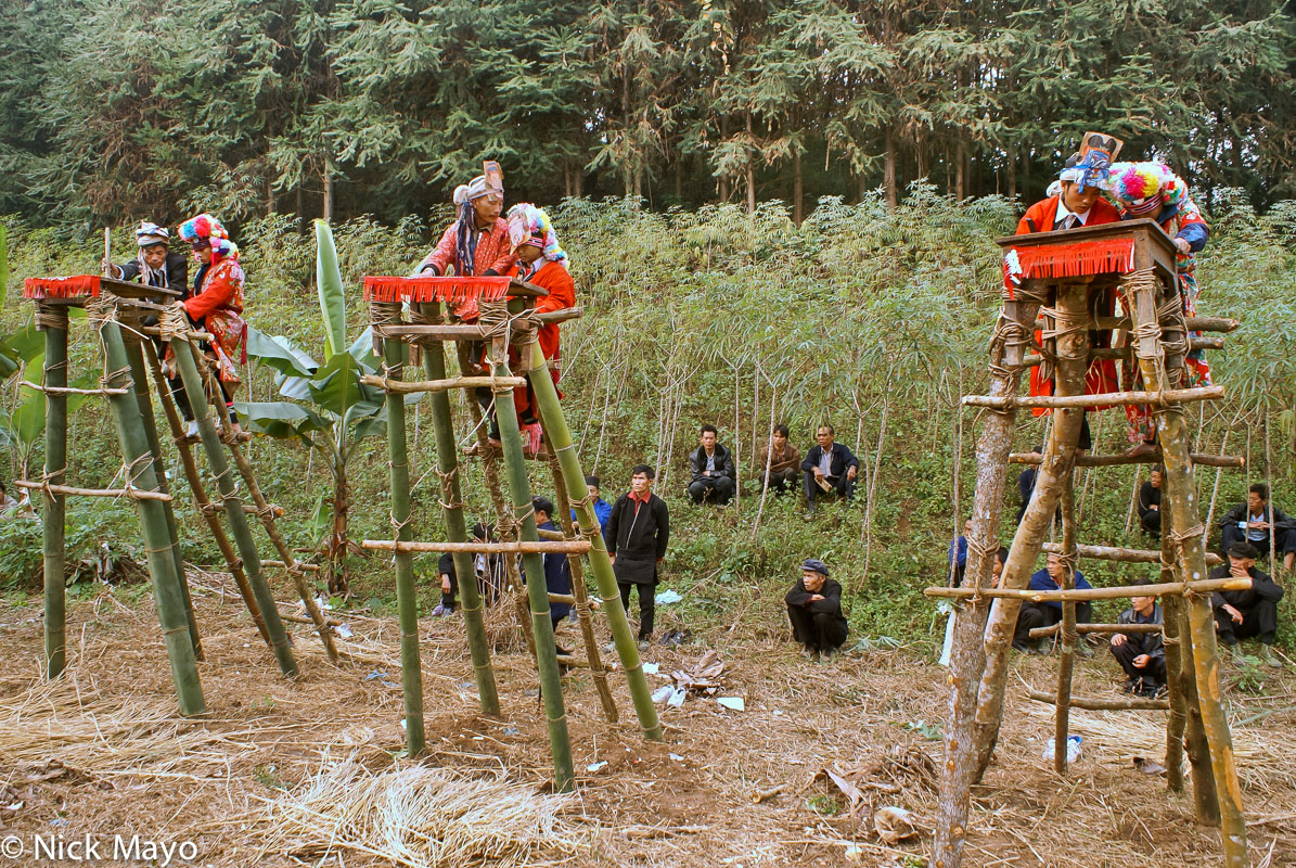
MULTIPOLYGON (((995 337, 990 344, 990 394, 1006 397, 1017 393, 1021 381, 1021 357, 1029 340, 1028 324, 1036 319, 1038 298, 1003 302, 995 337)), ((963 585, 968 589, 989 588, 998 549, 999 516, 1003 511, 1003 488, 1007 459, 1012 450, 1016 407, 986 415, 976 444, 976 490, 972 500, 972 535, 968 537, 968 559, 963 585)), ((973 601, 954 620, 954 646, 950 651, 950 706, 945 719, 945 758, 941 763, 940 803, 937 806, 933 865, 958 868, 963 859, 967 836, 968 804, 976 772, 973 723, 981 675, 985 671, 985 628, 989 601, 973 601)), ((1002 632, 993 641, 1003 641, 1002 632)))

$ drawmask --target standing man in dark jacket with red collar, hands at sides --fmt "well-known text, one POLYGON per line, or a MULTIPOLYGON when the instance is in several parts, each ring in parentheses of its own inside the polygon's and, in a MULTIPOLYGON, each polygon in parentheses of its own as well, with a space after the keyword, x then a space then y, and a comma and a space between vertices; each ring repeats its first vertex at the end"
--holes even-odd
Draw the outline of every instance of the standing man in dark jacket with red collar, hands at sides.
POLYGON ((656 614, 657 564, 666 557, 670 512, 652 493, 653 468, 639 464, 630 474, 630 490, 617 498, 608 516, 608 555, 617 573, 621 605, 630 611, 630 589, 639 588, 639 644, 652 638, 656 614))

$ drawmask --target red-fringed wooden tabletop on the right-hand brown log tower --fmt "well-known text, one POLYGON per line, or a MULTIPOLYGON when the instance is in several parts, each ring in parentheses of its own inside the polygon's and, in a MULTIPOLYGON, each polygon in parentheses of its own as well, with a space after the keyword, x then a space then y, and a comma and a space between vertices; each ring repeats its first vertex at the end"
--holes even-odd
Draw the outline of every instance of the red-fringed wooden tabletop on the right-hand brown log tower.
POLYGON ((1165 231, 1155 221, 1137 219, 997 239, 995 243, 1004 252, 1004 288, 1012 298, 1017 285, 1012 280, 1013 271, 1019 280, 1058 280, 1086 275, 1115 276, 1155 267, 1163 276, 1173 280, 1173 258, 1166 259, 1159 253, 1169 247, 1169 237, 1165 237, 1166 244, 1137 243, 1139 236, 1153 232, 1165 236, 1165 231))

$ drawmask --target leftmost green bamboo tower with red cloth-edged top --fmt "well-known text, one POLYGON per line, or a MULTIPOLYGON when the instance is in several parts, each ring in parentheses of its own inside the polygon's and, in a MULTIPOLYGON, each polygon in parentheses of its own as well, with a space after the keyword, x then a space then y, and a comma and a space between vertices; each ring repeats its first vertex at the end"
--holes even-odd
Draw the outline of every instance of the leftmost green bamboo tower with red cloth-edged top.
POLYGON ((333 644, 330 627, 315 602, 312 583, 305 579, 306 572, 318 568, 295 561, 276 525, 283 509, 268 503, 260 494, 253 467, 228 422, 216 422, 227 414, 224 397, 206 356, 198 348, 210 336, 192 328, 184 306, 178 300, 179 293, 111 278, 79 275, 29 278, 23 285, 23 297, 35 302, 36 327, 45 337, 45 361, 39 384, 45 394, 44 474, 40 480, 17 481, 22 488, 39 490, 43 501, 45 676, 54 679, 67 666, 64 592, 66 498, 121 498, 130 501, 139 515, 149 579, 180 714, 193 716, 206 711, 198 672, 198 662, 203 659, 202 642, 184 572, 174 512, 175 496, 168 490, 163 472, 165 459, 153 411, 150 381, 156 385, 158 404, 176 445, 194 505, 238 586, 258 634, 273 653, 280 671, 285 676, 295 677, 298 664, 292 640, 266 580, 266 567, 270 566, 281 567, 293 577, 310 614, 310 623, 315 625, 328 658, 336 660, 338 651, 333 644), (102 348, 102 388, 67 388, 71 307, 86 310, 87 320, 102 348), (145 314, 156 315, 158 324, 144 326, 145 314), (198 442, 206 454, 209 475, 216 485, 218 502, 210 500, 207 483, 193 454, 193 442, 185 437, 185 426, 175 404, 175 396, 162 371, 163 350, 168 350, 189 396, 200 433, 198 442), (119 488, 96 489, 67 484, 67 396, 74 393, 104 397, 110 405, 123 461, 118 472, 118 477, 123 480, 119 488), (244 503, 237 493, 233 477, 236 472, 246 485, 251 503, 244 503), (248 523, 249 515, 260 520, 280 561, 260 559, 248 523))

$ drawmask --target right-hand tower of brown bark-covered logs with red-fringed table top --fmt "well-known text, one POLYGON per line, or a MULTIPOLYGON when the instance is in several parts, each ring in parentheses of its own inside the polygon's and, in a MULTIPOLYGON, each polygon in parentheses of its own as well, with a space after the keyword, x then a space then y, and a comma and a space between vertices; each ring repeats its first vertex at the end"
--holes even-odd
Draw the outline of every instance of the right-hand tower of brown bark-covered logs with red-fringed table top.
MULTIPOLYGON (((1223 396, 1222 387, 1186 388, 1185 357, 1195 348, 1217 348, 1221 336, 1196 337, 1190 331, 1230 332, 1238 320, 1185 318, 1175 274, 1175 249, 1150 219, 1037 232, 998 240, 1006 262, 1028 263, 1020 282, 1006 280, 1003 306, 990 341, 990 389, 966 396, 966 406, 988 410, 976 448, 977 484, 968 535, 968 561, 959 588, 929 588, 929 597, 954 598, 960 609, 950 658, 950 710, 945 727, 934 868, 959 868, 968 830, 971 789, 985 773, 1003 717, 1007 660, 1017 612, 1025 601, 1059 601, 1059 624, 1032 631, 1056 637, 1060 647, 1058 684, 1052 692, 1030 689, 1028 697, 1056 710, 1054 769, 1067 772, 1070 708, 1104 711, 1160 708, 1169 711, 1165 743, 1168 785, 1182 791, 1183 755, 1192 775, 1198 821, 1218 826, 1223 864, 1249 864, 1242 791, 1234 764, 1229 721, 1220 702, 1220 663, 1210 592, 1249 585, 1249 579, 1207 580, 1218 563, 1205 551, 1205 528, 1195 502, 1194 467, 1240 467, 1240 458, 1191 452, 1185 405, 1223 396), (1077 253, 1094 253, 1093 265, 1077 253), (1120 298, 1124 317, 1100 317, 1100 301, 1120 298), (1117 349, 1094 346, 1094 330, 1126 330, 1117 349), (1039 331, 1036 331, 1039 330, 1039 331), (1137 365, 1142 389, 1085 394, 1093 359, 1128 358, 1137 365), (1054 381, 1050 396, 1019 394, 1021 375, 1038 366, 1054 381), (1146 405, 1156 419, 1159 448, 1148 455, 1080 455, 1077 442, 1086 407, 1146 405), (1043 454, 1012 453, 1020 407, 1043 407, 1052 424, 1043 454), (1073 471, 1159 461, 1165 466, 1161 498, 1160 551, 1081 545, 1074 516, 1073 471), (1036 488, 1012 538, 1002 586, 993 586, 991 567, 999 549, 1003 488, 1011 463, 1037 464, 1036 488), (1055 512, 1061 514, 1061 541, 1047 544, 1055 512), (1041 551, 1061 557, 1064 577, 1055 592, 1026 584, 1041 551), (1159 563, 1160 583, 1151 586, 1077 590, 1073 573, 1081 558, 1159 563), (1164 624, 1168 697, 1165 699, 1072 695, 1076 644, 1081 634, 1138 632, 1129 625, 1076 624, 1077 602, 1157 596, 1164 624), (993 603, 993 606, 991 606, 993 603)), ((1126 385, 1126 388, 1130 388, 1126 385)))

